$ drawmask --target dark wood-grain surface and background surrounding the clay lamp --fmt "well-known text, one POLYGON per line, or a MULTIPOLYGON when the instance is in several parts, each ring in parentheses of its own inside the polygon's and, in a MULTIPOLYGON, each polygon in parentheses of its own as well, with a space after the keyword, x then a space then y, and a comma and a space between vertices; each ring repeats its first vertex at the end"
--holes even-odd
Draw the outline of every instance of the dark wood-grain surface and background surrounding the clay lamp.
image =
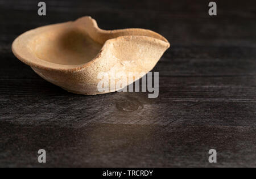
POLYGON ((217 16, 210 1, 51 0, 47 16, 38 2, 0 0, 0 167, 256 167, 256 1, 216 1, 217 16), (84 15, 171 42, 157 99, 74 95, 11 52, 21 33, 84 15))

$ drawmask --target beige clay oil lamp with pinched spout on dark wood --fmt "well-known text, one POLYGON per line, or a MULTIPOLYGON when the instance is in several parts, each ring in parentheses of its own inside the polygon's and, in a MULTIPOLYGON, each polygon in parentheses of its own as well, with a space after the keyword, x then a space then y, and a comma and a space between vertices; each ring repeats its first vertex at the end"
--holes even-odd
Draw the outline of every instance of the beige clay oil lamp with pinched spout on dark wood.
MULTIPOLYGON (((89 16, 75 22, 47 25, 23 33, 13 42, 20 61, 65 90, 96 95, 99 73, 141 74, 152 70, 170 47, 158 33, 146 29, 105 31, 89 16)), ((117 83, 119 78, 115 78, 117 83)), ((134 81, 133 80, 133 81, 134 81)), ((111 85, 109 85, 111 86, 111 85)), ((110 88, 109 92, 117 91, 110 88)))

